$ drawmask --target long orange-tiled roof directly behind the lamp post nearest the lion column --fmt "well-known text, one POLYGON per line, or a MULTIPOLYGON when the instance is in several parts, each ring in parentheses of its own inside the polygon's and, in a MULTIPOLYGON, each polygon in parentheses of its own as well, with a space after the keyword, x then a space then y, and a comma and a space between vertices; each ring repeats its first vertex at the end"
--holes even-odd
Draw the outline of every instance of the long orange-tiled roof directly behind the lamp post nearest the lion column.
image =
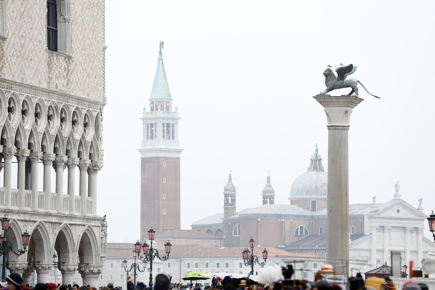
MULTIPOLYGON (((197 248, 190 253, 187 253, 183 256, 183 258, 202 258, 202 257, 211 257, 211 258, 226 258, 226 257, 237 257, 241 258, 242 251, 244 247, 224 247, 224 248, 197 248)), ((257 255, 259 259, 261 259, 261 252, 264 250, 264 247, 256 247, 254 248, 254 255, 257 255)), ((278 248, 274 247, 266 247, 266 250, 269 252, 269 257, 278 257, 278 258, 306 258, 306 259, 321 259, 321 257, 312 255, 312 254, 301 254, 301 253, 290 253, 278 248)))

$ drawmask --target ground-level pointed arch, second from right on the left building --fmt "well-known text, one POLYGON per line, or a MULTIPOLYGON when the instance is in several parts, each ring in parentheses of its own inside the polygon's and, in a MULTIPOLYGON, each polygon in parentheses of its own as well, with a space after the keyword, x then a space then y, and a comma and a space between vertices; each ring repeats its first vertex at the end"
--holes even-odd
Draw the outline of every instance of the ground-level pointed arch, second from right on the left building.
POLYGON ((62 223, 57 228, 55 236, 52 251, 57 252, 58 261, 65 263, 77 262, 74 236, 70 226, 67 223, 62 223))

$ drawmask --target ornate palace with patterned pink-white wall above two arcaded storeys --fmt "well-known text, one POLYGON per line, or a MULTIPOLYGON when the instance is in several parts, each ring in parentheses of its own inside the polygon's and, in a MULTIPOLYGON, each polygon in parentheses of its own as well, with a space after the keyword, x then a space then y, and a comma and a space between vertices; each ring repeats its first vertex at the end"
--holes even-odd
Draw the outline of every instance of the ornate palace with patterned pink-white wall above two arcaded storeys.
MULTIPOLYGON (((97 216, 103 167, 104 0, 0 0, 0 210, 6 238, 27 253, 7 268, 46 283, 58 256, 62 283, 75 271, 94 285, 107 223, 97 216), (67 170, 67 172, 65 172, 67 170), (67 175, 67 176, 66 176, 67 175), (79 179, 79 186, 75 186, 79 179)), ((95 284, 96 285, 96 284, 95 284)))

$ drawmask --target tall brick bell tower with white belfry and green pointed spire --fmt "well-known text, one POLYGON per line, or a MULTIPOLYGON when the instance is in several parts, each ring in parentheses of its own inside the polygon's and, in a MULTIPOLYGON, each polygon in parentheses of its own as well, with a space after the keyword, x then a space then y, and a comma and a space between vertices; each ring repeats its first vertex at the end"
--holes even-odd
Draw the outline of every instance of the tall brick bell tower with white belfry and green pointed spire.
POLYGON ((142 115, 141 240, 147 230, 156 233, 180 229, 180 154, 178 108, 172 109, 160 43, 157 70, 149 98, 150 111, 142 115))

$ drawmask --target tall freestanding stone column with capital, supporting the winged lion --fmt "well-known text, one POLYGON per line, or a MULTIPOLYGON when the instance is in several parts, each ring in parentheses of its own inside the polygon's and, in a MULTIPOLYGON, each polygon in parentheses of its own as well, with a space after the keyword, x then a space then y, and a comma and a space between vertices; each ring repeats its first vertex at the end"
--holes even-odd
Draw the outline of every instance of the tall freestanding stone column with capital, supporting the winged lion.
POLYGON ((353 108, 363 99, 358 97, 314 97, 326 112, 328 121, 328 262, 343 265, 336 269, 349 273, 349 156, 348 130, 353 108), (330 260, 331 259, 331 260, 330 260))

